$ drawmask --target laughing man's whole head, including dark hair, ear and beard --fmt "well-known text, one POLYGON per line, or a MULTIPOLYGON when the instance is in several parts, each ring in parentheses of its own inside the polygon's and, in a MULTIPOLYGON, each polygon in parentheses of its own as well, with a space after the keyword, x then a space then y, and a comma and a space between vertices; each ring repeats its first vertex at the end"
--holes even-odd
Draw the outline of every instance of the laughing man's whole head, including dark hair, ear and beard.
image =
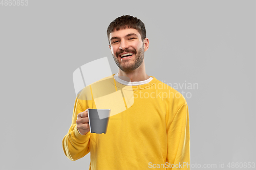
POLYGON ((107 34, 113 58, 122 71, 131 72, 144 64, 149 41, 140 19, 129 15, 116 18, 110 23, 107 34))

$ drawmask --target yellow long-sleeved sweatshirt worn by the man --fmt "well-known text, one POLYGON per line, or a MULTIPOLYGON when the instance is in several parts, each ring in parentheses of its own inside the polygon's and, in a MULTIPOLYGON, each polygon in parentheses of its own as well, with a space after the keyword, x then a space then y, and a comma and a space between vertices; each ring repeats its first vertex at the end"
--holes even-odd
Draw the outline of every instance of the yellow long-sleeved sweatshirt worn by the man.
POLYGON ((155 77, 127 87, 113 76, 77 95, 62 140, 66 156, 75 161, 91 152, 90 170, 190 169, 188 108, 181 93, 155 77), (111 109, 106 134, 79 134, 77 114, 87 108, 111 109))

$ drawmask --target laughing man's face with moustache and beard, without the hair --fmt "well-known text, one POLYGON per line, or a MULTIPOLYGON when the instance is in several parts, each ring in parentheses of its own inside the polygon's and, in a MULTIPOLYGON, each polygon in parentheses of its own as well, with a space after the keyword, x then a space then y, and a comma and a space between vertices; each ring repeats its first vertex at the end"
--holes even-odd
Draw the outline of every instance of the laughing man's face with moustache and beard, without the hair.
POLYGON ((117 66, 124 72, 138 68, 148 48, 148 39, 141 40, 136 29, 122 29, 110 33, 110 50, 117 66))

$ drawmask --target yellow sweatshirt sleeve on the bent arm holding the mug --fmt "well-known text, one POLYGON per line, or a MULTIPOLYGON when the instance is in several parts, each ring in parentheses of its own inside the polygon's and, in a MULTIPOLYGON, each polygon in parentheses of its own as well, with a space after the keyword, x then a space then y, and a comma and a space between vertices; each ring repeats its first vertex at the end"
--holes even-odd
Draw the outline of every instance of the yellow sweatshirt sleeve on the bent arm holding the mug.
POLYGON ((62 140, 63 151, 72 161, 80 159, 90 152, 90 132, 86 135, 81 135, 77 130, 77 114, 87 109, 86 101, 84 101, 84 105, 81 105, 79 101, 80 100, 76 98, 72 124, 68 134, 62 140))

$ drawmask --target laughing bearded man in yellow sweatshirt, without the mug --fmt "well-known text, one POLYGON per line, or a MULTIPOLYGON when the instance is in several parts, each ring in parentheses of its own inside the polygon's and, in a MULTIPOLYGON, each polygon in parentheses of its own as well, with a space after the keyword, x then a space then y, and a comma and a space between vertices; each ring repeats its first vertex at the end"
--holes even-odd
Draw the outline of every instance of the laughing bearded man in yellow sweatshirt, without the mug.
MULTIPOLYGON (((77 96, 72 125, 62 141, 66 156, 74 161, 91 152, 89 169, 190 169, 187 103, 178 91, 146 74, 144 23, 121 16, 110 23, 107 34, 118 74, 77 96), (90 133, 87 109, 96 108, 96 95, 112 89, 121 89, 124 98, 132 92, 134 103, 128 106, 124 100, 126 110, 110 117, 106 134, 90 133)), ((119 104, 110 107, 115 110, 119 104)))

